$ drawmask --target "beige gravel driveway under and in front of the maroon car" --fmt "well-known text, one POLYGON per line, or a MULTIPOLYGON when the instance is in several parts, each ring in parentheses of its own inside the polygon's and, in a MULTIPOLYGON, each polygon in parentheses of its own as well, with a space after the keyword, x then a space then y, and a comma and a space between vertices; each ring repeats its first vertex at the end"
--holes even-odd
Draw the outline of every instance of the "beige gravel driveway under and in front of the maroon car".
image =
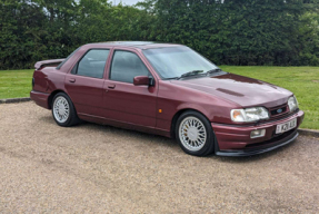
POLYGON ((0 105, 0 213, 319 213, 319 139, 245 158, 0 105))

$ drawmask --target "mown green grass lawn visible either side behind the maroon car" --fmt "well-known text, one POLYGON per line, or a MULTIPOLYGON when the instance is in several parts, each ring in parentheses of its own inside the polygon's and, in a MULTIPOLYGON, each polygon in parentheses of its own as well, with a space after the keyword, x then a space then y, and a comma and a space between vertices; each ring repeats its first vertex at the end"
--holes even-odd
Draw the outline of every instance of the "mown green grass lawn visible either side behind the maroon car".
MULTIPOLYGON (((319 67, 221 66, 225 71, 268 81, 295 93, 306 113, 302 128, 319 129, 319 67)), ((33 70, 0 71, 0 99, 29 97, 33 70)))

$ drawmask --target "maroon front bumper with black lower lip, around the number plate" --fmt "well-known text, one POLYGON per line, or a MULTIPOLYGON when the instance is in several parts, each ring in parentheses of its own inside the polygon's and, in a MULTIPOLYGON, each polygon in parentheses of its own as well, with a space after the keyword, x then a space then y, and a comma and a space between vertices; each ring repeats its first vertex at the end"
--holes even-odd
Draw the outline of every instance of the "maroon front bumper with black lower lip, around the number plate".
POLYGON ((276 149, 293 142, 298 137, 297 128, 303 120, 305 113, 298 113, 256 126, 229 126, 211 124, 216 134, 216 155, 220 156, 250 156, 276 149), (277 125, 297 118, 297 127, 287 133, 276 135, 277 125), (266 135, 260 138, 250 138, 251 130, 266 129, 266 135))

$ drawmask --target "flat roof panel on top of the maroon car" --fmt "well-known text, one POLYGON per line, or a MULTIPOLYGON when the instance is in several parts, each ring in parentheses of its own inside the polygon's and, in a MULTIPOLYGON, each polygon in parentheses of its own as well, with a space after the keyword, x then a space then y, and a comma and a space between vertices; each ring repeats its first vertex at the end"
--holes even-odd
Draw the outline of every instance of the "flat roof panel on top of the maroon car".
POLYGON ((152 49, 152 48, 165 48, 165 47, 176 47, 176 46, 182 46, 179 43, 160 43, 160 42, 153 42, 153 41, 107 41, 107 42, 97 42, 97 43, 88 43, 84 46, 90 47, 132 47, 132 48, 139 48, 139 49, 152 49))

